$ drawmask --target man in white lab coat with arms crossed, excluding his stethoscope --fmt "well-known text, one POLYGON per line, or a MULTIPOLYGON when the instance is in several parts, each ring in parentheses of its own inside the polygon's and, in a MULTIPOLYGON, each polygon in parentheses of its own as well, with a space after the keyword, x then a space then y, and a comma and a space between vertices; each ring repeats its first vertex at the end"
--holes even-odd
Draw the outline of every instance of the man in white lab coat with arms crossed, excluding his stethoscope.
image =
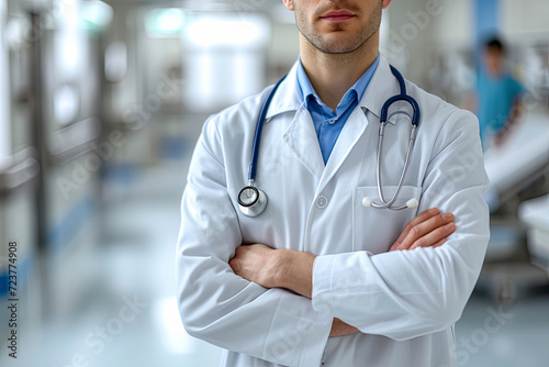
MULTIPOLYGON (((456 366, 453 323, 489 238, 478 121, 406 82, 421 108, 395 205, 376 209, 381 108, 400 91, 379 56, 391 0, 283 0, 301 57, 273 96, 244 215, 259 110, 272 88, 210 118, 182 200, 178 302, 223 366, 456 366)), ((411 131, 390 109, 382 188, 396 190, 411 131)))

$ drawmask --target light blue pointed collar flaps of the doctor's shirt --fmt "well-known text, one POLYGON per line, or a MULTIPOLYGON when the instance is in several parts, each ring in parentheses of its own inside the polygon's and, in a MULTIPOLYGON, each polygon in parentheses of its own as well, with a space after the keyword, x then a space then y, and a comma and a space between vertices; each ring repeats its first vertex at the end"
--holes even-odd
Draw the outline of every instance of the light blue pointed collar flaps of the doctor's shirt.
MULTIPOLYGON (((380 60, 380 54, 378 53, 378 57, 376 57, 376 60, 370 65, 368 70, 366 70, 365 74, 355 82, 352 87, 345 93, 345 96, 341 98, 340 103, 345 102, 349 97, 348 94, 351 93, 352 91, 356 93, 357 101, 362 100, 362 96, 366 92, 366 89, 368 88, 368 85, 370 84, 370 80, 372 79, 373 74, 376 73, 376 69, 378 68, 380 60)), ((309 101, 310 97, 313 97, 318 104, 323 104, 321 101, 321 98, 318 94, 316 94, 316 91, 314 90, 313 86, 311 85, 311 81, 309 80, 309 77, 305 73, 305 69, 303 68, 303 64, 301 64, 301 56, 298 58, 296 63, 296 75, 298 75, 298 85, 301 90, 301 96, 302 96, 302 102, 304 102, 304 105, 306 109, 309 109, 309 101)))

